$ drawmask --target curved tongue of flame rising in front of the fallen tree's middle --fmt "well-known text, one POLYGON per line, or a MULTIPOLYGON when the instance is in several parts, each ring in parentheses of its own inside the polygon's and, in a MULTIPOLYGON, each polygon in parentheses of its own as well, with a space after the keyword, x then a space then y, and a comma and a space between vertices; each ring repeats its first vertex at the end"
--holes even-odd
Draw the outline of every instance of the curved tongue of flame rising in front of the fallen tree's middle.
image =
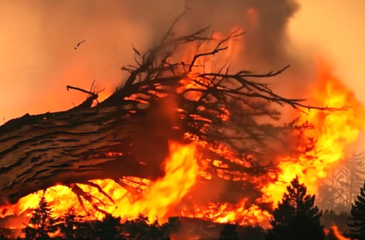
POLYGON ((118 202, 118 209, 114 215, 137 216, 138 213, 145 212, 150 219, 156 216, 165 217, 195 184, 199 173, 196 154, 194 144, 181 146, 178 143, 172 143, 170 157, 166 161, 165 177, 157 181, 132 205, 128 200, 118 202), (130 206, 126 205, 128 203, 130 206))

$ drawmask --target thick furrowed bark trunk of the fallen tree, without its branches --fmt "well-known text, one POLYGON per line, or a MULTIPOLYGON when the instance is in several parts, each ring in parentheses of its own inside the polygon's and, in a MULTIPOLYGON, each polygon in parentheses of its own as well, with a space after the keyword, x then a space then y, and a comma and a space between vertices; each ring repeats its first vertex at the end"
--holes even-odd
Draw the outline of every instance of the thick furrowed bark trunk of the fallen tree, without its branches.
POLYGON ((162 176, 160 164, 172 137, 164 129, 171 132, 171 124, 150 107, 125 102, 27 114, 1 126, 0 204, 56 184, 162 176))

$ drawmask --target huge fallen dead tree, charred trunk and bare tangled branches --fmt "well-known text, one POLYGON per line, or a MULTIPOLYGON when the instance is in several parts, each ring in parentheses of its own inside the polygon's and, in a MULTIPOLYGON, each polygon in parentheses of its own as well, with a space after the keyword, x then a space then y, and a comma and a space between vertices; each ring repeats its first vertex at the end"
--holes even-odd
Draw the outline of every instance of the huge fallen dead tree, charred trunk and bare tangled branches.
POLYGON ((97 93, 67 86, 67 90, 79 90, 89 97, 67 111, 26 114, 0 126, 0 203, 14 203, 56 184, 70 186, 79 196, 92 199, 75 185, 98 188, 89 182, 92 179, 113 179, 136 193, 124 177, 156 180, 163 176, 160 166, 168 153, 169 139, 206 142, 201 146, 205 152, 226 164, 217 167, 211 163, 207 171, 213 177, 218 178, 219 171, 239 173, 249 183, 249 176, 264 174, 267 169, 246 156, 262 153, 266 141, 284 130, 308 127, 275 127, 256 121, 262 116, 279 118, 271 103, 299 110, 325 109, 307 106, 304 99, 283 98, 262 83, 288 66, 267 74, 232 72, 227 64, 206 69, 200 60, 226 50, 229 40, 244 33, 214 39, 204 28, 176 37, 173 29, 184 14, 146 53, 133 47, 134 65, 122 67, 130 73, 124 87, 103 102, 92 107, 97 93), (204 51, 202 44, 211 41, 216 47, 204 51), (174 54, 191 42, 197 46, 191 61, 174 59, 174 54), (212 151, 222 144, 234 154, 228 157, 212 151))

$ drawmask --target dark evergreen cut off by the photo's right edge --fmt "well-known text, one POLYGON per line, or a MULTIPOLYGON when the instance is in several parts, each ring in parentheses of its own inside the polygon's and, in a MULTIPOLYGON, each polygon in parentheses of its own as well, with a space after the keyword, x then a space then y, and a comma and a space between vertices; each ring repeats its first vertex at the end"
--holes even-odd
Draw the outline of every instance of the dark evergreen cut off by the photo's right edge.
POLYGON ((349 227, 349 236, 353 239, 365 240, 365 182, 360 188, 360 195, 357 200, 351 204, 349 227))

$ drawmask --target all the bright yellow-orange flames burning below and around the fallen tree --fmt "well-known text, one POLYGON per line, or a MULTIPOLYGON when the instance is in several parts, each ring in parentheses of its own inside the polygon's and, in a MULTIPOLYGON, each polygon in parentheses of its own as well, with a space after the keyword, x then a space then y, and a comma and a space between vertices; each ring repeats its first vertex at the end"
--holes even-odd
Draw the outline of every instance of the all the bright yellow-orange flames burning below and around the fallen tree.
MULTIPOLYGON (((253 18, 253 24, 256 24, 256 13, 252 11, 249 13, 253 18)), ((219 34, 214 35, 217 38, 219 36, 219 34)), ((229 42, 229 44, 233 43, 229 42)), ((232 52, 228 52, 228 54, 232 54, 232 52)), ((309 96, 311 104, 331 108, 342 108, 345 104, 348 109, 338 112, 323 112, 312 109, 302 114, 301 121, 308 121, 314 126, 313 130, 303 133, 304 142, 298 146, 302 154, 282 156, 279 159, 278 169, 280 171, 277 173, 276 181, 264 186, 258 184, 258 188, 263 194, 258 203, 273 203, 273 207, 275 207, 285 192, 288 183, 296 176, 299 176, 300 181, 308 187, 310 194, 316 193, 318 181, 326 178, 331 170, 340 164, 342 159, 345 158, 350 144, 356 141, 360 130, 365 127, 363 106, 355 99, 353 93, 330 73, 325 65, 320 65, 317 83, 311 90, 311 96, 309 96)), ((181 81, 182 87, 177 91, 204 88, 202 86, 206 84, 203 81, 206 81, 206 79, 199 79, 193 73, 188 73, 187 78, 181 81)), ((200 97, 196 95, 197 92, 187 92, 187 94, 189 94, 189 99, 200 97)), ((133 96, 130 99, 136 99, 136 97, 133 96)), ((226 109, 222 109, 221 114, 223 121, 229 120, 230 113, 226 109)), ((190 139, 194 137, 190 133, 186 133, 186 135, 190 139)), ((71 188, 66 186, 51 187, 45 191, 44 196, 51 204, 54 214, 58 216, 63 215, 67 209, 75 207, 83 215, 88 213, 90 218, 97 219, 103 217, 103 211, 110 212, 115 216, 127 215, 131 217, 143 212, 150 219, 156 216, 164 219, 173 212, 173 208, 189 193, 196 183, 197 177, 201 176, 207 179, 211 177, 198 165, 197 145, 211 147, 206 142, 198 139, 188 145, 171 142, 170 154, 164 162, 166 174, 154 183, 145 179, 123 179, 130 186, 138 186, 140 190, 138 194, 130 194, 120 184, 107 179, 91 181, 98 184, 106 194, 90 185, 77 184, 86 193, 88 199, 91 199, 87 200, 85 196, 82 197, 84 198, 82 199, 84 200, 84 206, 80 204, 79 198, 72 192, 71 188), (114 203, 106 195, 109 195, 114 203)), ((244 159, 237 159, 226 146, 222 145, 210 150, 224 155, 230 161, 240 163, 242 166, 249 164, 244 159)), ((204 163, 211 162, 222 167, 221 163, 214 159, 202 159, 200 162, 203 166, 204 163)), ((225 178, 224 175, 224 172, 218 173, 221 178, 225 178)), ((252 181, 260 182, 256 179, 252 179, 252 181)), ((27 209, 35 208, 42 194, 43 191, 38 191, 23 197, 15 205, 1 207, 0 217, 20 215, 27 209)), ((260 209, 258 204, 247 206, 246 202, 247 199, 242 199, 236 205, 228 203, 209 203, 208 206, 204 207, 196 205, 193 212, 183 209, 181 215, 211 219, 216 222, 235 222, 243 225, 262 222, 270 218, 270 213, 260 209)), ((332 229, 335 234, 338 233, 337 228, 332 227, 332 229)), ((338 237, 338 239, 347 238, 338 237)))

